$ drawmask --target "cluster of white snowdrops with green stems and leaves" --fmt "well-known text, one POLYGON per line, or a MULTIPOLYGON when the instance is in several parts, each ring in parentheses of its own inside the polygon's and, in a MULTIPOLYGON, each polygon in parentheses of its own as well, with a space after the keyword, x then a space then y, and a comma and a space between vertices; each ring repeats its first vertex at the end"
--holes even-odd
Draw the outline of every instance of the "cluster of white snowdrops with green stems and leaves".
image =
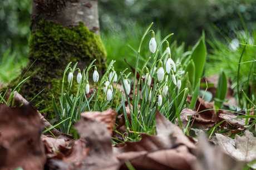
POLYGON ((137 73, 137 71, 140 72, 140 78, 137 78, 137 75, 135 74, 134 80, 137 80, 137 82, 133 83, 133 87, 131 87, 131 78, 129 78, 131 73, 126 75, 125 71, 127 69, 125 69, 119 75, 117 75, 113 66, 115 61, 111 61, 109 67, 106 70, 106 73, 102 76, 101 79, 99 73, 97 72, 96 66, 93 65, 95 60, 93 60, 86 69, 83 69, 83 71, 76 68, 77 63, 73 66, 73 68, 70 67, 71 63, 66 66, 62 80, 60 108, 57 106, 55 97, 52 96, 53 109, 55 110, 56 117, 59 122, 58 125, 60 125, 60 130, 62 132, 67 134, 70 132, 73 123, 80 120, 81 112, 104 111, 113 107, 116 111, 119 111, 121 108, 124 110, 126 129, 130 128, 131 130, 138 132, 148 132, 152 130, 151 127, 154 127, 155 125, 154 118, 157 109, 161 111, 164 116, 168 117, 168 119, 174 120, 176 118, 175 113, 179 112, 183 107, 184 99, 186 98, 184 96, 188 94, 188 88, 183 88, 180 91, 181 79, 179 75, 182 75, 183 73, 181 70, 176 73, 175 62, 171 59, 169 42, 166 39, 173 34, 166 36, 165 39, 163 39, 157 46, 155 33, 153 30, 149 30, 151 25, 152 23, 145 31, 140 42, 140 47, 145 36, 152 32, 151 40, 149 42, 149 49, 155 56, 153 57, 153 61, 151 61, 151 63, 149 63, 151 58, 148 58, 142 68, 139 69, 139 47, 136 59, 135 73, 137 73), (166 42, 166 49, 164 53, 161 54, 160 59, 157 60, 159 57, 159 47, 161 47, 164 42, 166 42), (165 63, 165 69, 163 68, 163 61, 165 63), (156 68, 155 65, 157 62, 158 66, 156 68), (147 66, 149 66, 149 68, 147 68, 147 66), (92 79, 96 83, 100 81, 99 87, 97 87, 97 90, 95 89, 94 91, 92 89, 90 90, 90 85, 88 82, 88 72, 90 69, 93 69, 93 67, 94 72, 92 79), (64 90, 64 81, 68 69, 68 88, 67 90, 64 90), (76 95, 72 95, 70 89, 72 86, 73 74, 75 70, 78 70, 78 88, 76 95), (171 75, 169 76, 169 74, 171 75), (121 89, 119 91, 117 91, 118 82, 121 83, 121 89), (113 87, 114 85, 115 87, 113 87), (130 94, 131 89, 132 94, 130 94), (88 95, 86 96, 86 94, 89 93, 90 99, 87 99, 88 95), (129 94, 132 95, 131 99, 129 98, 129 94), (181 98, 179 97, 180 94, 182 94, 181 98), (125 104, 125 102, 128 102, 128 106, 125 104), (125 108, 126 106, 129 107, 131 121, 128 120, 125 108))

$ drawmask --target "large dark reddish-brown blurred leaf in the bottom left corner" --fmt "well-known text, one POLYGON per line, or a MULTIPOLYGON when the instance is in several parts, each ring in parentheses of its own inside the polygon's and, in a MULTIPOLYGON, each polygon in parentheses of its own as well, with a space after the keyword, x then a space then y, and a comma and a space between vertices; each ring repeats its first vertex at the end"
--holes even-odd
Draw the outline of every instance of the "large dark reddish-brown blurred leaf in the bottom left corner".
POLYGON ((31 105, 0 110, 0 169, 43 169, 45 148, 40 140, 43 123, 31 105))

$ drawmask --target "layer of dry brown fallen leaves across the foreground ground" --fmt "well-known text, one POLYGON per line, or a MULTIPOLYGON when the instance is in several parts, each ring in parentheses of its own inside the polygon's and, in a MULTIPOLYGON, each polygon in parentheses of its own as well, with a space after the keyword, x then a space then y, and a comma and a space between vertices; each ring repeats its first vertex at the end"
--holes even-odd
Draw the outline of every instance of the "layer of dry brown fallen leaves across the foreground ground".
MULTIPOLYGON (((210 146, 209 142, 201 138, 199 144, 195 145, 184 135, 180 127, 167 120, 159 111, 155 116, 157 135, 141 133, 141 140, 137 142, 112 146, 111 134, 116 117, 114 110, 81 114, 81 120, 74 126, 81 136, 76 141, 73 141, 71 135, 63 135, 56 128, 52 128, 51 132, 60 140, 57 142, 56 138, 49 134, 41 135, 44 126, 50 127, 48 125, 50 123, 47 123, 47 120, 18 93, 16 97, 19 97, 16 98, 16 106, 21 102, 23 106, 14 108, 0 106, 1 169, 13 169, 19 166, 23 169, 127 169, 126 163, 130 162, 135 169, 200 170, 216 167, 215 169, 224 170, 232 169, 232 165, 237 165, 233 169, 242 169, 241 162, 233 158, 245 162, 254 158, 238 159, 231 154, 227 155, 219 147, 210 146), (46 140, 46 138, 50 139, 46 140)), ((190 112, 195 115, 193 111, 190 112)), ((184 114, 184 120, 186 118, 184 114)), ((248 132, 245 131, 243 137, 247 137, 248 142, 249 138, 253 138, 252 145, 255 146, 255 138, 252 135, 248 137, 248 132)), ((216 134, 216 136, 220 135, 216 134)), ((227 139, 225 136, 222 137, 227 139)), ((237 149, 240 145, 239 140, 240 143, 246 141, 243 137, 235 137, 237 149)), ((226 147, 229 146, 227 143, 226 147)), ((251 152, 250 149, 253 150, 249 148, 247 153, 251 152)), ((238 151, 234 153, 242 152, 238 151)))

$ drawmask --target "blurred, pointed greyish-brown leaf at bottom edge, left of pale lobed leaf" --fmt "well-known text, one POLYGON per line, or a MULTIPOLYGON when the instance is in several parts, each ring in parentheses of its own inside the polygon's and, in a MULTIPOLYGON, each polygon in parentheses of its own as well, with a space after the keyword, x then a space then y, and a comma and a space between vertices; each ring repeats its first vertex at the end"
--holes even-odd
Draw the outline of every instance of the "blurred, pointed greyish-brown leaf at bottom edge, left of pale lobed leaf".
POLYGON ((204 135, 199 137, 198 147, 193 153, 197 157, 193 164, 194 170, 240 170, 244 167, 244 163, 235 161, 221 151, 219 146, 210 145, 204 135))

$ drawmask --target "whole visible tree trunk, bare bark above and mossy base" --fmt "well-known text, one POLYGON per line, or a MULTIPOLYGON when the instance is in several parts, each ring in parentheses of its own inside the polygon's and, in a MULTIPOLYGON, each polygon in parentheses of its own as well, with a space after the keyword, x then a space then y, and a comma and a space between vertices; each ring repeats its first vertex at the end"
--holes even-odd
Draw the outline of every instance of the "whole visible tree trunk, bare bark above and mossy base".
POLYGON ((29 101, 46 88, 33 103, 44 100, 39 105, 42 109, 51 106, 51 95, 60 96, 63 70, 70 61, 72 65, 78 61, 77 67, 83 70, 97 59, 95 65, 102 74, 106 51, 99 36, 97 12, 95 0, 32 0, 29 63, 22 75, 36 62, 26 74, 31 78, 21 88, 23 97, 29 101))

